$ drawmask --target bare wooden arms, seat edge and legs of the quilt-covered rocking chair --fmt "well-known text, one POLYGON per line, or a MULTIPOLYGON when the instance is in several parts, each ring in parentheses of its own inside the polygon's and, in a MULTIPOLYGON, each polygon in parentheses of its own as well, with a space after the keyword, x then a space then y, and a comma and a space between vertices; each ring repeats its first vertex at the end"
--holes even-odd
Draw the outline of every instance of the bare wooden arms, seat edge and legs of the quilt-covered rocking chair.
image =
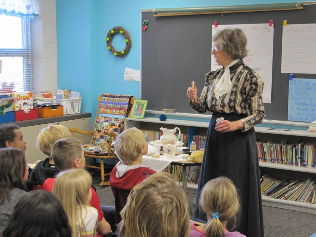
MULTIPOLYGON (((73 132, 73 136, 74 137, 77 137, 76 133, 81 134, 83 143, 84 143, 85 135, 89 135, 89 136, 91 135, 90 144, 92 144, 92 139, 93 139, 92 135, 94 134, 93 131, 82 131, 80 129, 73 128, 73 127, 71 127, 69 130, 71 132, 73 132)), ((114 151, 113 150, 111 151, 112 140, 113 140, 113 137, 114 138, 116 137, 116 134, 114 132, 110 131, 110 132, 107 133, 107 135, 110 136, 109 143, 107 144, 108 150, 110 152, 108 152, 107 155, 84 154, 85 157, 94 158, 94 164, 93 165, 85 165, 85 167, 92 168, 92 169, 97 169, 97 170, 101 171, 101 183, 100 183, 100 185, 110 185, 110 181, 107 181, 107 182, 104 181, 104 177, 110 175, 110 173, 104 173, 104 167, 108 167, 108 165, 104 166, 104 159, 112 159, 114 161, 114 164, 118 163, 117 157, 114 155, 114 151), (96 158, 100 159, 100 166, 96 165, 96 161, 95 161, 96 158)))

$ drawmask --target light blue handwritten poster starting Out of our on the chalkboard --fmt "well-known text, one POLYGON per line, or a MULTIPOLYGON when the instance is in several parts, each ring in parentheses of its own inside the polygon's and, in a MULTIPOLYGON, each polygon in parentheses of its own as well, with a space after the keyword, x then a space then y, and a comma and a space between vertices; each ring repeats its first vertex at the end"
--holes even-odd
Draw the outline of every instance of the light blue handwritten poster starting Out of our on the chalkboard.
POLYGON ((316 120, 316 79, 289 80, 288 120, 300 122, 316 120))

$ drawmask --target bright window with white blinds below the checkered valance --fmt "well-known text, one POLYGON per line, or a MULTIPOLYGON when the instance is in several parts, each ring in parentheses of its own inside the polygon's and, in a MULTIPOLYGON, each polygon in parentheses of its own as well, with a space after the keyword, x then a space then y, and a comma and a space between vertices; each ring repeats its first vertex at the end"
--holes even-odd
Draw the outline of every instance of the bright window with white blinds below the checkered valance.
POLYGON ((35 91, 31 22, 0 15, 0 92, 35 91))

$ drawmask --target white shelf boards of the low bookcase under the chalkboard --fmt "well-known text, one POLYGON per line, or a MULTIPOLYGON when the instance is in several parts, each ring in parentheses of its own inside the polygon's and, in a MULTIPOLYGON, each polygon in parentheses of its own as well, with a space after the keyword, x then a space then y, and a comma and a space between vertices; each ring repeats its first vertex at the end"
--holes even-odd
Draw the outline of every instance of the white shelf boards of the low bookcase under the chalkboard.
MULTIPOLYGON (((160 121, 159 116, 163 112, 148 110, 145 113, 143 119, 125 118, 125 129, 131 127, 137 127, 140 129, 156 129, 163 125, 173 125, 173 127, 179 127, 182 132, 186 132, 190 127, 199 127, 200 132, 204 131, 206 134, 209 126, 211 115, 205 114, 191 114, 191 113, 164 113, 167 116, 166 121, 160 121)), ((264 120, 261 124, 255 126, 256 137, 258 139, 275 140, 281 142, 282 140, 302 140, 305 142, 316 143, 316 135, 306 134, 306 131, 310 123, 304 122, 290 122, 290 121, 277 121, 277 120, 264 120), (267 128, 280 128, 280 129, 291 129, 294 131, 278 131, 278 130, 267 130, 267 128)), ((169 127, 168 127, 169 128, 169 127)), ((286 176, 289 178, 293 174, 304 174, 304 175, 315 175, 316 168, 306 167, 293 167, 290 165, 261 162, 259 161, 259 167, 268 169, 272 173, 279 173, 278 170, 283 170, 286 176)), ((190 188, 196 188, 197 184, 191 184, 190 188)), ((269 196, 262 196, 262 204, 272 207, 284 208, 289 210, 297 210, 308 213, 316 214, 316 204, 303 203, 296 201, 274 199, 269 196)))

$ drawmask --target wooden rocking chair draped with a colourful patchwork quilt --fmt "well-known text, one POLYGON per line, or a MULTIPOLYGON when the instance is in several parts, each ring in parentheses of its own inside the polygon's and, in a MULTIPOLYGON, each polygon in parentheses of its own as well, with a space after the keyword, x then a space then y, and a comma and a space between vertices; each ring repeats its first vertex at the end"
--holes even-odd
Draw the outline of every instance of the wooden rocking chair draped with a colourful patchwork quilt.
POLYGON ((93 165, 86 165, 88 168, 101 171, 100 185, 110 185, 110 182, 105 182, 104 177, 110 173, 105 173, 104 168, 110 167, 111 170, 118 163, 117 157, 114 155, 114 149, 111 148, 112 141, 115 140, 117 134, 124 129, 124 118, 128 117, 131 112, 131 107, 135 101, 135 97, 130 95, 118 94, 101 94, 98 97, 98 109, 95 115, 93 131, 82 131, 78 128, 71 127, 70 131, 73 136, 78 134, 82 137, 82 144, 85 148, 85 157, 93 158, 93 165), (85 136, 91 136, 90 143, 85 144, 85 136), (87 146, 93 146, 94 149, 102 149, 100 154, 91 152, 87 146), (89 152, 89 153, 88 153, 89 152), (96 159, 100 159, 100 166, 96 164, 96 159), (106 159, 112 160, 111 164, 106 162, 106 159), (104 164, 107 165, 104 165, 104 164))

